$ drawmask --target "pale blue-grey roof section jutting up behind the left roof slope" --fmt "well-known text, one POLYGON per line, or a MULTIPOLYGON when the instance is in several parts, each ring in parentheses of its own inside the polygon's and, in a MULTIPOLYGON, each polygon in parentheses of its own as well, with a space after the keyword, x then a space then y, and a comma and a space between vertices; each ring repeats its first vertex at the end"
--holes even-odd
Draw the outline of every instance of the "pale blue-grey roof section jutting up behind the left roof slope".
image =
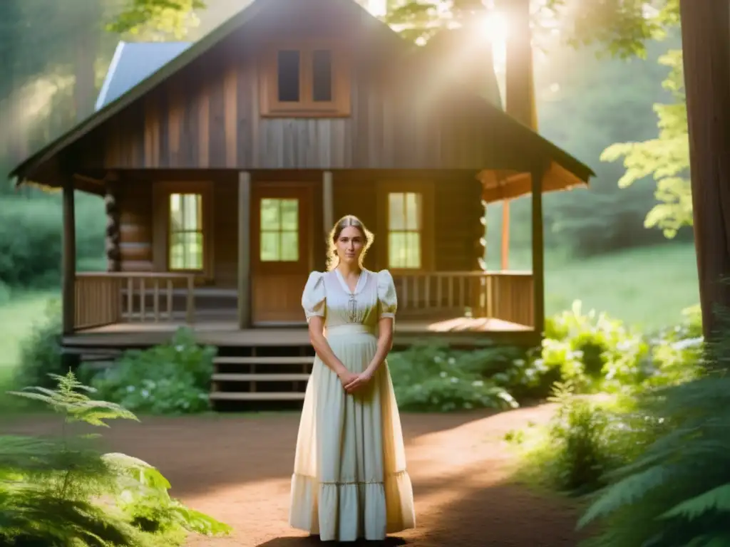
POLYGON ((95 110, 100 110, 123 96, 139 82, 147 79, 192 42, 119 42, 109 65, 109 71, 96 98, 95 110))

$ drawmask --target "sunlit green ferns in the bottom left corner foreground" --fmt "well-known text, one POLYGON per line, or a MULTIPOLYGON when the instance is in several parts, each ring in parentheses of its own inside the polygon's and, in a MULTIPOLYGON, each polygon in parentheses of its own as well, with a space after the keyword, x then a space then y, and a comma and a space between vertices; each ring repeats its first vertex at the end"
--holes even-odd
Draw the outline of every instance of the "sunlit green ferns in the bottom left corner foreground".
MULTIPOLYGON (((185 531, 222 534, 229 527, 169 497, 169 482, 125 454, 101 454, 90 435, 72 436, 72 422, 107 426, 137 419, 114 403, 93 401, 69 372, 58 389, 14 392, 64 415, 59 439, 0 437, 0 545, 158 547, 183 542, 185 531)), ((108 426, 107 426, 108 427, 108 426)))

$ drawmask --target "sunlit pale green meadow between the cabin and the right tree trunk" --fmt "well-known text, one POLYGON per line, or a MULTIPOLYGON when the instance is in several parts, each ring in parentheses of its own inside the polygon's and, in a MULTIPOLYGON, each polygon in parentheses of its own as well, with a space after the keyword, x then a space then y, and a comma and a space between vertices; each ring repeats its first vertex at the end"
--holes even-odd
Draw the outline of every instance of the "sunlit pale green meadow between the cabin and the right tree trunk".
MULTIPOLYGON (((529 269, 529 253, 515 252, 510 265, 529 269)), ((682 310, 699 303, 694 246, 664 244, 611 255, 565 260, 545 255, 545 314, 570 309, 605 311, 644 330, 675 325, 682 310)))

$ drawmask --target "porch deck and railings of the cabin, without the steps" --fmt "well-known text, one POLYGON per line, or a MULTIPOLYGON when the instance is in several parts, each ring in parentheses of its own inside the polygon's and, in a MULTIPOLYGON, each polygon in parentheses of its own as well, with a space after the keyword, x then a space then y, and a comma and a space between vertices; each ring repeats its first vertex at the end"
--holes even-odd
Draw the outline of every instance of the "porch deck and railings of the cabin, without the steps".
MULTIPOLYGON (((195 274, 175 272, 77 273, 69 343, 96 338, 112 344, 115 338, 122 346, 153 345, 184 325, 204 343, 219 346, 237 345, 242 333, 294 332, 290 327, 306 331, 303 314, 299 321, 244 327, 240 317, 246 315, 242 306, 247 299, 240 299, 237 290, 196 286, 195 279, 195 274), (214 341, 218 338, 220 344, 214 341)), ((534 331, 529 272, 419 272, 396 274, 394 281, 399 296, 396 333, 408 338, 534 331)), ((293 298, 301 287, 283 287, 282 292, 291 292, 293 298)), ((269 298, 277 296, 269 293, 269 298)))

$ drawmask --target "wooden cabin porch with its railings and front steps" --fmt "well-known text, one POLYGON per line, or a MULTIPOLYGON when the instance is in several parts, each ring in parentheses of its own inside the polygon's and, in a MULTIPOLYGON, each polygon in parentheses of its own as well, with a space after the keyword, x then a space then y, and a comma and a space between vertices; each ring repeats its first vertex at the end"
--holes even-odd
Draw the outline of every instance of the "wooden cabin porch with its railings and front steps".
MULTIPOLYGON (((523 272, 396 275, 395 349, 426 339, 455 347, 488 342, 532 346, 533 279, 523 272)), ((301 292, 297 285, 292 291, 301 292)), ((163 344, 180 327, 218 347, 210 397, 260 406, 304 397, 314 357, 304 320, 242 327, 236 290, 196 287, 193 274, 77 273, 74 330, 64 351, 109 361, 125 349, 163 344)), ((303 319, 303 314, 302 314, 303 319)))

